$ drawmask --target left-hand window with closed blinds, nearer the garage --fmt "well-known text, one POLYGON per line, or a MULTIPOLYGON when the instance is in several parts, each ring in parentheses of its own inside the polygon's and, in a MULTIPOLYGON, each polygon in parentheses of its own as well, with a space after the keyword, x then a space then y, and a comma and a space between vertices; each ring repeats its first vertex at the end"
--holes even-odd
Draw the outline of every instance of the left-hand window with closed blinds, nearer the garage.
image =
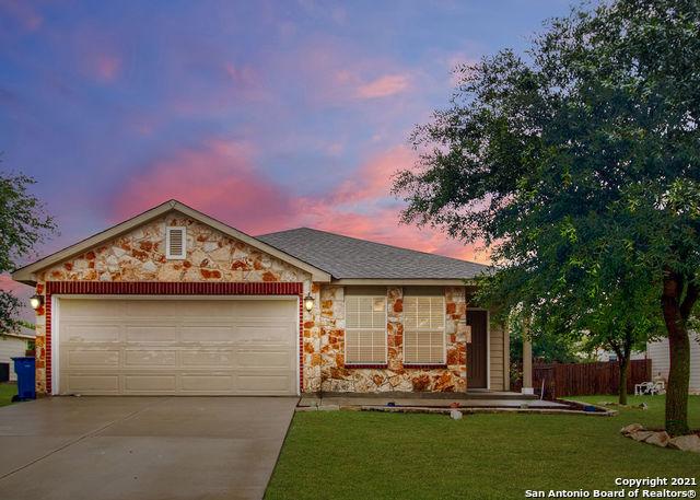
POLYGON ((386 363, 386 296, 346 295, 346 363, 386 363))

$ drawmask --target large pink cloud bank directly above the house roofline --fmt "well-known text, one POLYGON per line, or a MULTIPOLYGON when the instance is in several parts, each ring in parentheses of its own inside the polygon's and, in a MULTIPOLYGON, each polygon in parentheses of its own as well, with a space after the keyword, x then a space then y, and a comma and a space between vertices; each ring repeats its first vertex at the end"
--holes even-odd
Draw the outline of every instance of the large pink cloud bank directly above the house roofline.
POLYGON ((394 147, 368 159, 348 178, 318 196, 293 196, 256 171, 247 144, 210 140, 144 165, 115 198, 115 222, 167 199, 178 199, 248 234, 306 225, 456 258, 488 261, 475 246, 440 231, 399 224, 401 205, 389 194, 392 174, 408 167, 413 152, 394 147))

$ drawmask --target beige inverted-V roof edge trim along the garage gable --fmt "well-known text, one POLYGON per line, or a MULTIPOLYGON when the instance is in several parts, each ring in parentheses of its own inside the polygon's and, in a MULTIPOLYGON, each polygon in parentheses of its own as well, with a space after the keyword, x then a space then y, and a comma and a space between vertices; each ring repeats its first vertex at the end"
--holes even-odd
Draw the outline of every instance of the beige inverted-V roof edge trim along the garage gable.
POLYGON ((71 245, 67 248, 63 248, 55 254, 51 254, 47 257, 44 257, 33 264, 24 266, 12 274, 12 279, 15 281, 21 281, 27 284, 36 283, 36 274, 49 268, 55 264, 62 263, 65 260, 70 259, 81 253, 84 253, 95 246, 98 246, 105 242, 114 240, 122 234, 126 234, 139 226, 147 224, 148 222, 158 219, 159 217, 165 216, 168 212, 177 211, 182 214, 191 218, 205 225, 208 225, 214 230, 220 231, 221 233, 231 236, 235 240, 242 241, 243 243, 260 251, 266 254, 269 254, 280 260, 290 264, 296 268, 303 269, 312 275, 312 279, 314 281, 328 282, 330 281, 330 275, 325 270, 317 268, 308 263, 299 259, 292 255, 284 253, 283 251, 270 246, 269 244, 261 242, 253 236, 249 236, 230 225, 226 225, 215 219, 212 219, 209 216, 206 216, 202 212, 199 212, 190 207, 187 207, 184 204, 180 204, 176 200, 170 200, 158 207, 154 207, 143 213, 140 213, 120 224, 117 224, 113 228, 109 228, 101 233, 97 233, 93 236, 90 236, 74 245, 71 245))

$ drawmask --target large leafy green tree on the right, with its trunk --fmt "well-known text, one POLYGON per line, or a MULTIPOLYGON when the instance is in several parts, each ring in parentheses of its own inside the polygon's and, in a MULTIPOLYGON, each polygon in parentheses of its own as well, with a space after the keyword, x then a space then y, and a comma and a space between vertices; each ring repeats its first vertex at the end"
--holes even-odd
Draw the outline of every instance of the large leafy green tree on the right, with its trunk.
POLYGON ((673 434, 688 431, 700 294, 699 32, 695 0, 619 0, 551 20, 526 55, 459 68, 452 105, 412 137, 417 167, 394 184, 404 222, 482 240, 521 281, 513 293, 549 290, 525 296, 526 311, 575 300, 582 276, 615 275, 607 249, 625 249, 661 300, 673 434))

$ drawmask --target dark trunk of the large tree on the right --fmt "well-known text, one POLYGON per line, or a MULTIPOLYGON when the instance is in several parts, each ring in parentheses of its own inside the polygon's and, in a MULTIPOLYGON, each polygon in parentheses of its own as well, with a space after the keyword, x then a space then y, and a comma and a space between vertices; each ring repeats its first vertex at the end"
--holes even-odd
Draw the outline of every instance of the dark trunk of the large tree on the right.
MULTIPOLYGON (((682 278, 673 272, 664 276, 662 307, 668 330, 670 369, 666 388, 666 431, 672 435, 687 434, 688 385, 690 376, 690 340, 686 319, 681 314, 682 278)), ((684 304, 685 305, 685 304, 684 304)))

